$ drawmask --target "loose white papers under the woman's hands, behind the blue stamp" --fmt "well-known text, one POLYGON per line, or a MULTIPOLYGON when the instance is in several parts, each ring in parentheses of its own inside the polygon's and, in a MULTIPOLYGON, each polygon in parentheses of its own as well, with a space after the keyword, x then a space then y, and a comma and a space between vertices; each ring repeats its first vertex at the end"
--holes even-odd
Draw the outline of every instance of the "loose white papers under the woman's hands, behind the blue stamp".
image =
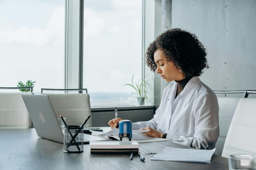
MULTIPOLYGON (((105 137, 105 138, 112 137, 112 138, 115 138, 116 140, 120 140, 119 129, 117 128, 114 128, 107 133, 100 132, 100 131, 93 131, 93 130, 90 130, 90 131, 92 132, 92 135, 95 135, 95 136, 105 137)), ((132 140, 138 143, 169 140, 169 139, 163 139, 158 137, 150 137, 149 135, 142 133, 147 131, 148 130, 132 130, 132 140)))

